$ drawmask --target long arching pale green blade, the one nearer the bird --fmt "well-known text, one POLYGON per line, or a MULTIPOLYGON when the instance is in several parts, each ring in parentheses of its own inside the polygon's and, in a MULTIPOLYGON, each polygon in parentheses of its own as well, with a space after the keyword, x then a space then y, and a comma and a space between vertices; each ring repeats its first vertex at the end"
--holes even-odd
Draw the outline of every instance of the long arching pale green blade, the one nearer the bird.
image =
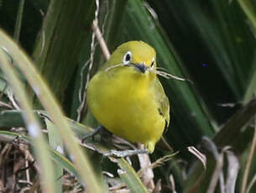
POLYGON ((17 44, 14 44, 13 41, 2 31, 0 31, 0 44, 9 51, 13 60, 18 61, 18 68, 22 73, 24 73, 24 76, 39 97, 39 101, 42 102, 42 105, 49 113, 50 118, 55 123, 55 126, 58 129, 61 138, 63 138, 68 151, 74 158, 76 170, 79 171, 81 179, 86 183, 88 192, 101 192, 88 159, 85 154, 82 153, 74 134, 71 132, 71 128, 63 117, 60 107, 55 101, 53 95, 50 93, 48 87, 44 84, 44 81, 39 76, 38 72, 35 70, 32 62, 29 60, 27 55, 19 50, 17 44), (88 176, 90 176, 90 178, 88 178, 88 176))

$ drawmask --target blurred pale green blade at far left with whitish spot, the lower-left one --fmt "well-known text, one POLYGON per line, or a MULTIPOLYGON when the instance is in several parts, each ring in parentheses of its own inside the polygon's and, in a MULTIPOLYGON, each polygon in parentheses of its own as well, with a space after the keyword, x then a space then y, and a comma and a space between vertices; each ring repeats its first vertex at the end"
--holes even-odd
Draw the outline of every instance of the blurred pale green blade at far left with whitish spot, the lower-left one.
MULTIPOLYGON (((0 42, 8 41, 7 37, 3 32, 0 34, 0 42)), ((1 43, 2 44, 2 43, 1 43)), ((4 46, 4 44, 2 44, 4 46)), ((8 62, 7 55, 0 49, 0 66, 3 72, 8 77, 13 91, 15 91, 16 96, 19 99, 20 106, 24 109, 24 120, 26 126, 29 130, 29 134, 35 139, 34 149, 36 157, 39 159, 39 164, 42 169, 41 174, 41 185, 43 186, 44 192, 55 192, 55 183, 53 178, 53 165, 50 161, 50 156, 45 148, 45 140, 43 134, 41 133, 41 127, 34 117, 32 112, 31 104, 29 104, 28 97, 24 91, 24 86, 18 80, 18 76, 13 68, 13 65, 8 62)))

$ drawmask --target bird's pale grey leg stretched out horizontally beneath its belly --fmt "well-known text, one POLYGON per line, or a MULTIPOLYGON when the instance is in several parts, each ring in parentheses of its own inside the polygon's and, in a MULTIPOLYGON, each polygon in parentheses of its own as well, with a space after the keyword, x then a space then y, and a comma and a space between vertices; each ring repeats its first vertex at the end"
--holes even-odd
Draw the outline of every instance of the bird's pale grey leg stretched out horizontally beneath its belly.
POLYGON ((109 153, 103 154, 103 156, 124 158, 124 157, 132 156, 135 154, 149 154, 149 151, 147 149, 134 149, 134 150, 128 149, 123 151, 111 150, 109 153))

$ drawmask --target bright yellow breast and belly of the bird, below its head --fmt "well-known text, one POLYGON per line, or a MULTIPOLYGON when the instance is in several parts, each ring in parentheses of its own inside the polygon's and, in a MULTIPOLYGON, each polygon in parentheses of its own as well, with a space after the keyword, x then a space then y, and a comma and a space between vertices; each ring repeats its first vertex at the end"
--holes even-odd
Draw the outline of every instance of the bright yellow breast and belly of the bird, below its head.
POLYGON ((165 128, 152 84, 152 77, 123 67, 118 73, 100 71, 87 91, 91 112, 104 128, 129 141, 144 143, 150 152, 165 128))

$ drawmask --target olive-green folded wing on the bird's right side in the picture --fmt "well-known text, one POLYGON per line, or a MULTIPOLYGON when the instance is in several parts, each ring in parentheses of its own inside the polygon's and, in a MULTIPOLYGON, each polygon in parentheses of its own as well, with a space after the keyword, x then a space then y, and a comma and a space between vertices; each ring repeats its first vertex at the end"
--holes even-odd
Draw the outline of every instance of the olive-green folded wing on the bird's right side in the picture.
POLYGON ((159 114, 165 118, 166 125, 165 128, 168 128, 170 123, 170 105, 168 97, 165 95, 165 91, 160 81, 156 79, 154 81, 154 91, 156 96, 156 101, 159 105, 159 114))

